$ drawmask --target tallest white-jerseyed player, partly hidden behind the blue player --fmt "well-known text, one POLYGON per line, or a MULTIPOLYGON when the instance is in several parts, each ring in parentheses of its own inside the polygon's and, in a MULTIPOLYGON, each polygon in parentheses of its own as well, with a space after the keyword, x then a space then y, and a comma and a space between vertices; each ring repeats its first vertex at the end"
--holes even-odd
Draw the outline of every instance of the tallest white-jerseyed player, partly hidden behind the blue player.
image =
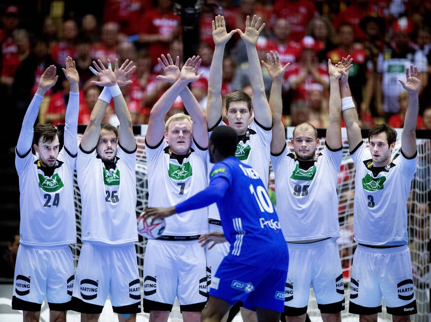
MULTIPOLYGON (((226 43, 232 35, 239 33, 245 42, 249 63, 249 77, 253 90, 250 98, 243 91, 234 91, 226 97, 226 115, 229 126, 238 134, 238 143, 235 156, 243 163, 255 169, 265 186, 268 186, 270 170, 270 144, 271 144, 271 110, 265 94, 262 69, 256 50, 256 42, 265 24, 261 18, 254 16, 250 21, 247 16, 245 32, 240 29, 227 33, 223 16, 216 16, 212 22, 212 36, 215 44, 208 79, 208 101, 206 117, 209 134, 215 127, 226 125, 222 120, 223 100, 221 96, 223 70, 223 55, 226 43)), ((208 162, 208 173, 213 167, 208 162)), ((209 231, 222 231, 220 215, 215 204, 208 210, 209 231)), ((206 248, 208 277, 214 275, 223 257, 229 252, 229 243, 216 245, 211 250, 206 248)), ((249 322, 255 321, 253 312, 241 310, 243 318, 249 322)))

